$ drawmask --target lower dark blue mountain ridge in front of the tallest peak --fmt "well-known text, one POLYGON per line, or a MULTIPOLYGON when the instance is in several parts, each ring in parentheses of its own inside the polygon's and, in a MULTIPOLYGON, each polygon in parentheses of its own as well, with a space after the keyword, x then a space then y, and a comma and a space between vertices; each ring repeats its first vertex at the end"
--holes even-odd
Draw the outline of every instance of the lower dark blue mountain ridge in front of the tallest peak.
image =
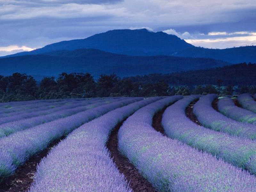
POLYGON ((172 73, 222 67, 229 63, 206 58, 173 56, 128 56, 95 49, 60 50, 37 55, 0 58, 0 75, 14 72, 36 77, 55 76, 62 72, 85 73, 94 77, 116 73, 120 77, 150 73, 172 73))

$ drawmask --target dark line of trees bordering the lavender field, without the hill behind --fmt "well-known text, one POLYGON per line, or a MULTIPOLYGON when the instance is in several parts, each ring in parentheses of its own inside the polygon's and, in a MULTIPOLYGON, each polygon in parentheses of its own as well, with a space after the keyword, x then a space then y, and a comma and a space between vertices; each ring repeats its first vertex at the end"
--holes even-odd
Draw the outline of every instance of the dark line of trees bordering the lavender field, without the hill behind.
POLYGON ((89 73, 61 73, 57 79, 44 77, 41 82, 37 83, 32 76, 14 73, 11 76, 0 76, 0 102, 90 97, 256 93, 255 85, 229 84, 225 87, 222 85, 222 80, 217 81, 215 85, 170 85, 168 79, 160 78, 153 82, 144 82, 134 81, 133 77, 120 78, 116 74, 100 75, 100 78, 95 81, 89 73))

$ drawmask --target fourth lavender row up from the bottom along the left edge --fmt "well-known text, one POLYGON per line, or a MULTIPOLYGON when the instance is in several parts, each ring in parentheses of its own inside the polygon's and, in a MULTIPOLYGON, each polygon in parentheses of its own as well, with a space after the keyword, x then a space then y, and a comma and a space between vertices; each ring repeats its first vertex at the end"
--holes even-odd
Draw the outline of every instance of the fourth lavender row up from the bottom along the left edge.
POLYGON ((52 108, 58 108, 61 106, 65 106, 65 105, 71 105, 71 104, 75 104, 75 103, 82 103, 82 102, 92 102, 92 101, 96 101, 96 100, 100 100, 100 98, 95 98, 95 99, 86 99, 86 100, 75 100, 75 99, 70 99, 70 100, 65 100, 65 101, 60 101, 60 102, 54 102, 54 103, 45 103, 45 105, 43 105, 42 107, 39 108, 30 108, 30 109, 26 109, 26 110, 22 110, 22 111, 14 111, 14 112, 10 112, 10 113, 1 113, 0 117, 10 117, 10 116, 18 116, 18 115, 22 115, 24 113, 32 113, 32 112, 36 112, 36 111, 44 111, 44 110, 48 110, 48 109, 52 109, 52 108))

